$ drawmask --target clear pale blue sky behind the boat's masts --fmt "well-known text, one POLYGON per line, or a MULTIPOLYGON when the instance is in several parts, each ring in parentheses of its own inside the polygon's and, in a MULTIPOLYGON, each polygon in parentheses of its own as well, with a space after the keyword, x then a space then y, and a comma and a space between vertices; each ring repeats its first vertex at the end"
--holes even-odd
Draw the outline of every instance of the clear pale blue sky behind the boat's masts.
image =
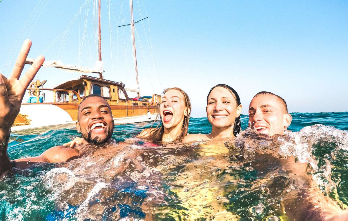
MULTIPOLYGON (((29 57, 93 67, 93 1, 0 2, 0 71, 9 76, 25 39, 29 57), (20 3, 19 3, 20 2, 20 3)), ((128 1, 102 0, 104 78, 135 85, 128 1), (110 12, 109 12, 110 11, 110 12), (110 18, 110 19, 109 19, 110 18), (111 34, 110 34, 111 33, 111 34)), ((180 87, 205 117, 216 84, 282 96, 289 112, 348 111, 347 1, 133 1, 141 95, 180 87)), ((26 67, 27 68, 27 67, 26 67)), ((41 68, 45 87, 80 76, 41 68)), ((95 75, 97 76, 97 75, 95 75)))

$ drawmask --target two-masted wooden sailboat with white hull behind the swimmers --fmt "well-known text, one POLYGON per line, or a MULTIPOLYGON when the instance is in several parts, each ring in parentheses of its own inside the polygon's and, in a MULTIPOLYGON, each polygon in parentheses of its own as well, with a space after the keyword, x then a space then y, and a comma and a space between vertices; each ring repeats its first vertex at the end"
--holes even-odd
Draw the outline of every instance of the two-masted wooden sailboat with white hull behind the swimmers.
MULTIPOLYGON (((46 62, 44 67, 55 67, 82 73, 83 75, 65 81, 53 88, 44 88, 46 81, 32 82, 27 88, 30 95, 27 103, 22 103, 21 110, 11 131, 15 134, 36 134, 50 129, 74 127, 77 121, 78 106, 84 97, 90 94, 102 96, 111 107, 115 124, 127 124, 155 120, 161 102, 161 96, 140 96, 139 80, 136 63, 136 49, 134 37, 133 4, 130 0, 130 13, 133 39, 133 53, 135 61, 135 75, 138 88, 137 97, 132 98, 127 94, 125 84, 103 77, 101 57, 101 19, 100 0, 98 2, 98 57, 99 62, 94 68, 84 68, 72 65, 64 65, 59 61, 46 62), (89 76, 87 74, 98 74, 89 76), (51 94, 49 99, 48 94, 51 94), (46 102, 51 100, 50 102, 46 102)), ((139 21, 138 21, 139 22, 139 21)), ((33 59, 27 58, 26 64, 32 64, 33 59)))

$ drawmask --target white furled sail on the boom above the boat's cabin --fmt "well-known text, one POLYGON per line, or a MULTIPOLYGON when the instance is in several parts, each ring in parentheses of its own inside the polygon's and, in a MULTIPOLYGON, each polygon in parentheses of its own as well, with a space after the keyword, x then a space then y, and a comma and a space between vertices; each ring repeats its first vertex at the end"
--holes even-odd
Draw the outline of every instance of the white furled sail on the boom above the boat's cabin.
MULTIPOLYGON (((35 61, 33 58, 26 58, 25 63, 26 64, 32 64, 35 61)), ((69 72, 80 72, 80 73, 97 73, 97 74, 103 74, 103 61, 96 61, 93 68, 85 68, 81 66, 76 65, 64 65, 64 63, 61 60, 53 60, 53 61, 45 61, 42 66, 44 68, 47 67, 53 67, 53 68, 62 68, 69 72)))

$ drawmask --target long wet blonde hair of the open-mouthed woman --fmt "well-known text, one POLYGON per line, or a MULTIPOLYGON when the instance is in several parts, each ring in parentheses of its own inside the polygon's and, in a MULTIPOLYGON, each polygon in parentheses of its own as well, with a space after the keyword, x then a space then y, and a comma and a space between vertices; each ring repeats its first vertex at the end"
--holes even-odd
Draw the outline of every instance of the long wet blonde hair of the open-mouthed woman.
MULTIPOLYGON (((167 93, 170 90, 177 90, 180 91, 180 93, 184 96, 184 102, 186 105, 187 110, 187 116, 184 116, 184 121, 182 123, 182 129, 181 129, 181 133, 179 134, 179 136, 177 136, 174 141, 172 141, 172 143, 175 142, 180 142, 186 135, 189 129, 189 119, 190 119, 190 114, 191 114, 191 101, 190 101, 190 97, 189 95, 187 95, 186 92, 184 92, 181 88, 179 87, 172 87, 172 88, 167 88, 163 91, 162 95, 164 95, 165 93, 167 93)), ((160 116, 159 113, 159 109, 157 112, 157 117, 156 119, 158 119, 158 116, 160 116)), ((162 119, 160 119, 162 120, 162 119)), ((153 124, 156 122, 156 120, 153 122, 153 124)), ((150 127, 150 131, 152 129, 152 126, 150 127)), ((148 137, 144 137, 141 136, 140 138, 145 138, 151 142, 161 142, 162 141, 162 137, 163 137, 163 133, 164 133, 164 125, 163 122, 161 123, 161 126, 159 127, 159 124, 157 125, 156 129, 154 129, 153 131, 150 132, 151 134, 148 137)))

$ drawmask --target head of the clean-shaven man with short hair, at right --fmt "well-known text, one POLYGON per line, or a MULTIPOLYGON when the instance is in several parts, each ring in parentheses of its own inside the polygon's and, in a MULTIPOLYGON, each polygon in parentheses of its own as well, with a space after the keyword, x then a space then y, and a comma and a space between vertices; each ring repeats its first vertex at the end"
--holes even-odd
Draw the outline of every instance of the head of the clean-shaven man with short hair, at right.
POLYGON ((272 94, 259 94, 249 105, 249 127, 259 133, 273 136, 284 134, 291 124, 292 117, 287 113, 285 105, 272 94))

